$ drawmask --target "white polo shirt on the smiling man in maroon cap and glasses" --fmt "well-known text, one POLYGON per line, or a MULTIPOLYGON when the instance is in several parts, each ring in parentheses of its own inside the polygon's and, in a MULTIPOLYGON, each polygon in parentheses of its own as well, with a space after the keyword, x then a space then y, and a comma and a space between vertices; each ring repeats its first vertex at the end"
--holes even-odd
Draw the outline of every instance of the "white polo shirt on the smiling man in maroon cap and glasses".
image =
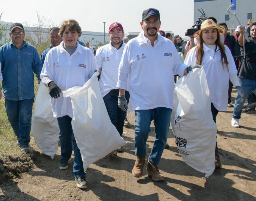
POLYGON ((96 50, 96 62, 98 68, 101 67, 100 74, 100 92, 102 97, 107 95, 110 90, 118 89, 118 66, 124 51, 125 43, 117 50, 109 44, 96 50))

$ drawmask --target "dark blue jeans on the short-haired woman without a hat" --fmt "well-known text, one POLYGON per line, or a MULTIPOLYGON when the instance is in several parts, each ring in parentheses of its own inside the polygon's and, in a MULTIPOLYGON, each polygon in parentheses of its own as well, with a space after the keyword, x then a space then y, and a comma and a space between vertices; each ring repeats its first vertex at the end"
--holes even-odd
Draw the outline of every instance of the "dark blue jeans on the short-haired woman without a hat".
POLYGON ((71 157, 72 142, 73 142, 74 154, 75 154, 73 172, 75 174, 75 177, 85 176, 81 153, 79 148, 77 147, 73 129, 71 126, 72 118, 66 115, 64 117, 58 117, 57 120, 60 128, 61 158, 67 160, 71 157))

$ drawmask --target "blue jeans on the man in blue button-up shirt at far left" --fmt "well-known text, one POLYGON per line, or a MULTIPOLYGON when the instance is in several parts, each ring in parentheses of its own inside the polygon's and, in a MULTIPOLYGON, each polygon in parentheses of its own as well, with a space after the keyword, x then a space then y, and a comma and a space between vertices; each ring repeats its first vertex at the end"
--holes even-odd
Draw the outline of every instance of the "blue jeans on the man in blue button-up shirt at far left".
POLYGON ((32 106, 34 98, 12 101, 5 99, 5 109, 20 147, 27 147, 30 142, 32 106))

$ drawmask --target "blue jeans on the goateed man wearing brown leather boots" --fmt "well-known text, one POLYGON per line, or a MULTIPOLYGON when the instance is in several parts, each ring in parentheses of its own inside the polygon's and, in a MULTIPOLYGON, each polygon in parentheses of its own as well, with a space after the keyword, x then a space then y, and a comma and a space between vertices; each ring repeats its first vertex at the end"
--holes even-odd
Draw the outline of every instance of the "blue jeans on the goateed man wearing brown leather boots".
POLYGON ((135 155, 144 157, 146 155, 146 143, 148 133, 150 132, 150 124, 154 119, 155 125, 155 141, 151 149, 148 160, 154 164, 159 164, 166 140, 168 137, 170 121, 170 108, 154 108, 150 110, 135 110, 135 155))

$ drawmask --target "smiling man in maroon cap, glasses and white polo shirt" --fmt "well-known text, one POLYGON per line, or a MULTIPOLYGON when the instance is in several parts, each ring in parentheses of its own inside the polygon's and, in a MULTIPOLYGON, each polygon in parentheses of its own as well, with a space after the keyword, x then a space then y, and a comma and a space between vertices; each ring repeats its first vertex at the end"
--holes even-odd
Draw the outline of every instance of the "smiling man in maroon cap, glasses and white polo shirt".
MULTIPOLYGON (((96 62, 100 73, 100 91, 108 111, 112 124, 116 127, 120 136, 123 134, 124 119, 126 112, 117 106, 118 88, 118 66, 123 54, 125 43, 123 42, 123 26, 114 22, 109 26, 108 36, 109 44, 102 46, 96 51, 96 62)), ((125 91, 125 97, 129 101, 130 94, 125 91)), ((116 156, 117 152, 123 151, 120 147, 118 150, 109 153, 109 156, 116 156)))

